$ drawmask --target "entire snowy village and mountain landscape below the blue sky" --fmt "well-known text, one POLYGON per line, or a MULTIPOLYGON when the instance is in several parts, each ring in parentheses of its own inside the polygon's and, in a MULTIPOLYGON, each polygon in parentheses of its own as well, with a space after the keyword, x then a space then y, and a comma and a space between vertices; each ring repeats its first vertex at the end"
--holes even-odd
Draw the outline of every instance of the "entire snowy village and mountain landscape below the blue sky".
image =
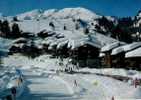
POLYGON ((0 14, 0 100, 141 100, 141 11, 0 14))

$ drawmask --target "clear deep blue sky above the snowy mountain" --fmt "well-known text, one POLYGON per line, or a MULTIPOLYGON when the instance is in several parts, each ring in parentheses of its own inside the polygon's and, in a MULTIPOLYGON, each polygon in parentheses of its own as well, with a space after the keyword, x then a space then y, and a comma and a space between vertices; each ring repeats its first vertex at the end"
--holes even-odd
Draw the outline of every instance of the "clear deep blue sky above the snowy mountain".
POLYGON ((101 15, 126 17, 141 10, 141 0, 0 0, 0 12, 4 15, 66 7, 84 7, 101 15))

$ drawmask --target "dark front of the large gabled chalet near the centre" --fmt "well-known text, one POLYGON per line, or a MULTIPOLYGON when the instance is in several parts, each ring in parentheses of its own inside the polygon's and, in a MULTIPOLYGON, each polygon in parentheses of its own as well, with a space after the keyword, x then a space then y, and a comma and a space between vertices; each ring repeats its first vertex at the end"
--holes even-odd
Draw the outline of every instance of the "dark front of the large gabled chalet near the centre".
POLYGON ((73 63, 79 63, 80 67, 96 68, 100 66, 100 49, 91 44, 84 44, 70 51, 70 57, 73 63))

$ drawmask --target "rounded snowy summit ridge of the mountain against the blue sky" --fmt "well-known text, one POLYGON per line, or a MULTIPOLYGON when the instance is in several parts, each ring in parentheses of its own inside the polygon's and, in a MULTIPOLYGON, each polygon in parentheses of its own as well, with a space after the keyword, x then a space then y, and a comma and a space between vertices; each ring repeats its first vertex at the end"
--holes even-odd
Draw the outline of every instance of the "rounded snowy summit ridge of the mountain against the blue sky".
POLYGON ((49 10, 33 10, 29 11, 23 14, 17 15, 18 19, 20 20, 31 20, 31 19, 38 19, 38 18, 59 18, 59 19, 65 19, 65 18, 74 18, 74 19, 83 19, 83 20, 93 20, 96 18, 99 18, 100 16, 85 9, 85 8, 64 8, 61 10, 57 9, 49 9, 49 10))

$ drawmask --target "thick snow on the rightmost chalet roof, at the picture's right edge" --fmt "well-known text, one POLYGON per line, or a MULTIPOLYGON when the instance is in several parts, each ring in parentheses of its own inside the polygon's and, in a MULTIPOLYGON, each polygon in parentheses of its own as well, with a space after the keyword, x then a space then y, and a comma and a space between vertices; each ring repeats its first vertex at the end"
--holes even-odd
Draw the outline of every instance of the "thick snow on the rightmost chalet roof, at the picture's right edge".
POLYGON ((133 51, 130 51, 130 52, 127 52, 125 54, 125 57, 126 58, 130 58, 130 57, 141 57, 141 47, 140 48, 137 48, 133 51))

